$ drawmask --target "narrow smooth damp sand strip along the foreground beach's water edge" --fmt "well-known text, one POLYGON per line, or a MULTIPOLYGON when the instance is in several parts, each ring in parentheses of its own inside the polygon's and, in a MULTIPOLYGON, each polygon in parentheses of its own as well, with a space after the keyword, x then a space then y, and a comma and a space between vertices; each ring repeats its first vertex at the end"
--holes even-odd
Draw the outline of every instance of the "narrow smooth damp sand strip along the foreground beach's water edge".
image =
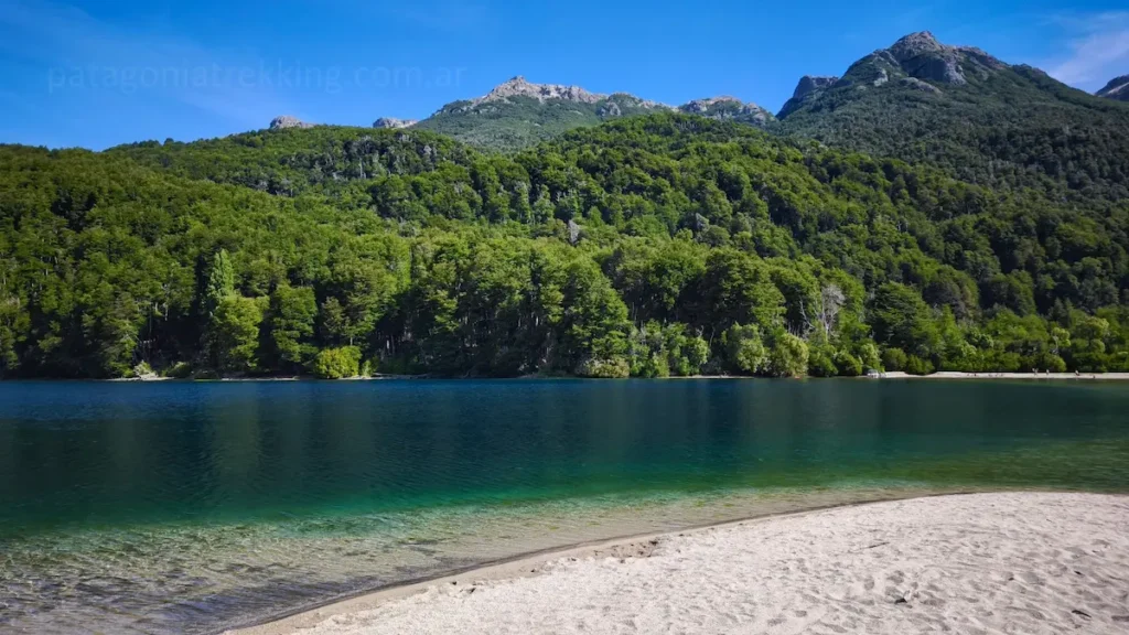
MULTIPOLYGON (((986 490, 986 489, 971 489, 971 488, 946 489, 946 490, 934 490, 934 492, 891 490, 889 496, 876 496, 874 498, 868 498, 865 501, 852 501, 849 503, 832 503, 828 505, 816 505, 803 510, 795 510, 787 512, 767 512, 762 514, 741 516, 737 519, 728 519, 720 522, 691 524, 675 531, 627 533, 622 536, 603 538, 598 540, 587 540, 572 545, 564 545, 560 547, 550 547, 548 549, 526 551, 523 554, 516 554, 510 557, 497 560, 483 562, 463 568, 456 568, 443 573, 437 573, 434 575, 425 575, 421 577, 413 577, 410 580, 394 582, 375 589, 368 589, 364 591, 358 591, 356 593, 349 593, 338 598, 332 598, 323 602, 307 604, 305 607, 296 608, 289 611, 282 611, 277 616, 273 616, 266 620, 257 620, 247 624, 236 625, 226 630, 219 632, 217 635, 297 635, 303 630, 308 629, 312 626, 321 621, 324 621, 326 619, 330 619, 334 616, 364 611, 364 610, 371 610, 387 602, 392 602, 395 600, 409 598, 411 595, 421 593, 432 586, 438 586, 438 585, 457 586, 458 584, 463 584, 465 586, 469 583, 473 584, 480 581, 505 581, 505 580, 517 580, 523 577, 536 576, 544 572, 543 569, 545 565, 555 560, 560 560, 562 558, 580 559, 588 557, 598 557, 603 555, 605 551, 614 551, 620 549, 633 550, 636 547, 642 548, 644 551, 649 551, 649 548, 654 547, 653 545, 650 545, 653 540, 660 540, 663 538, 669 538, 672 536, 680 536, 680 537, 689 536, 700 532, 714 531, 717 529, 725 529, 729 527, 742 527, 750 523, 771 521, 776 519, 799 517, 821 512, 865 507, 869 505, 881 505, 883 503, 896 503, 903 501, 918 501, 928 498, 945 498, 951 496, 974 496, 979 494, 994 494, 994 493, 1061 494, 1064 492, 1053 489, 986 490)), ((1129 497, 1129 494, 1124 496, 1129 497)))

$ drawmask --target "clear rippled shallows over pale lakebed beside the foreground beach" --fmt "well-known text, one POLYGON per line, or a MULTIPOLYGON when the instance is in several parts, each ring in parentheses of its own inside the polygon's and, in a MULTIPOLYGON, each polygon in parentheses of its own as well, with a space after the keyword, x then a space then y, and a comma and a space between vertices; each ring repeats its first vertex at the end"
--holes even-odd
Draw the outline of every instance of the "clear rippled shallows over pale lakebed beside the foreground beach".
POLYGON ((606 496, 7 540, 6 633, 212 633, 334 598, 632 533, 931 492, 839 488, 606 496))

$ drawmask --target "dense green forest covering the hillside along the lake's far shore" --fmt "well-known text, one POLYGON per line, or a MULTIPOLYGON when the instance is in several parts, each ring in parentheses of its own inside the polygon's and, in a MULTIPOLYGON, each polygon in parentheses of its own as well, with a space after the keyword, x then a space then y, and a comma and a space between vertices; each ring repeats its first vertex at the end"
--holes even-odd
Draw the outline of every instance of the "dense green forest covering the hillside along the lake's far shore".
POLYGON ((1007 185, 668 113, 0 147, 0 374, 1129 371, 1129 201, 1007 185))

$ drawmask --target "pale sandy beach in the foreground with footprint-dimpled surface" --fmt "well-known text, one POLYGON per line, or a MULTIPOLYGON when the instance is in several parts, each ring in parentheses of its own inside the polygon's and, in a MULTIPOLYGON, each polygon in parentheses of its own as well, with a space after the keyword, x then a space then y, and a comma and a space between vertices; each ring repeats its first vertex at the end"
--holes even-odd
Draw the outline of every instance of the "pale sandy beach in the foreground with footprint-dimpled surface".
POLYGON ((247 633, 1129 633, 1122 496, 918 498, 586 553, 376 593, 247 633), (489 580, 499 576, 508 579, 489 580))

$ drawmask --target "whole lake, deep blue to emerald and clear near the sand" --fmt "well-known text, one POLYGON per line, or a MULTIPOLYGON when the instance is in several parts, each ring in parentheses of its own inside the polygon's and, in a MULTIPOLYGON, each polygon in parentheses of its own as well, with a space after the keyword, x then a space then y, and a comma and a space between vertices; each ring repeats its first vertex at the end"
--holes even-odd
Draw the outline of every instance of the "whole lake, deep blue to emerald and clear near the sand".
POLYGON ((0 384, 0 633, 211 633, 583 540, 1129 490, 1129 385, 0 384))

